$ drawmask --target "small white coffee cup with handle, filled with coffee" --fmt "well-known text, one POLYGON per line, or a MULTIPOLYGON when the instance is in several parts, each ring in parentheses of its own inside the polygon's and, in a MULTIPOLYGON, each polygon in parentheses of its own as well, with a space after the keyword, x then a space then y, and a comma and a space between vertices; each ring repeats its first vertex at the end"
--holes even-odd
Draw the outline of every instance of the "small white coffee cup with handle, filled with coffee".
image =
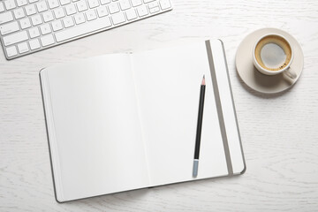
POLYGON ((266 75, 284 73, 291 79, 297 77, 290 69, 294 52, 292 45, 281 34, 265 34, 254 44, 253 62, 255 68, 266 75))

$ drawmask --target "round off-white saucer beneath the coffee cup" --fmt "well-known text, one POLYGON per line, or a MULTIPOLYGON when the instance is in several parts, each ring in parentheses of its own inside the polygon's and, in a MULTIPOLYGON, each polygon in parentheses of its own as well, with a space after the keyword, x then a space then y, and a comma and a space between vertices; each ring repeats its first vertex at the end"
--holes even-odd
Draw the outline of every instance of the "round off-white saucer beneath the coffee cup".
POLYGON ((291 34, 276 28, 263 28, 252 34, 248 34, 239 44, 235 64, 239 72, 239 77, 248 87, 264 94, 276 94, 292 87, 299 79, 304 66, 304 55, 299 42, 297 42, 291 34), (294 59, 291 64, 291 69, 297 74, 296 79, 290 79, 283 73, 268 76, 257 71, 254 67, 252 49, 255 42, 264 34, 282 34, 291 43, 292 49, 294 50, 294 59))

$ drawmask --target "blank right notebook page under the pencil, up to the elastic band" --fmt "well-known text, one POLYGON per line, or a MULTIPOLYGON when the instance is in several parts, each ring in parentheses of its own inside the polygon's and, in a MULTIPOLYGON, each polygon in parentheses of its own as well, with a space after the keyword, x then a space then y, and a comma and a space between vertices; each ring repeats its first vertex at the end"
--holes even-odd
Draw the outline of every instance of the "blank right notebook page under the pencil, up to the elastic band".
POLYGON ((133 72, 151 185, 194 179, 203 74, 207 86, 195 179, 228 175, 205 42, 134 53, 133 72))

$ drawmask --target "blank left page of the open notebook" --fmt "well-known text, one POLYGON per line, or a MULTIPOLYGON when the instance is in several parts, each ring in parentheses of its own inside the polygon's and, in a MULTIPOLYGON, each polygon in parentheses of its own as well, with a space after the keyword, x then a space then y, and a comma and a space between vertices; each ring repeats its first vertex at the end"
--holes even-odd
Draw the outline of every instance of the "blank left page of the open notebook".
POLYGON ((58 65, 41 77, 57 201, 149 186, 130 56, 58 65))

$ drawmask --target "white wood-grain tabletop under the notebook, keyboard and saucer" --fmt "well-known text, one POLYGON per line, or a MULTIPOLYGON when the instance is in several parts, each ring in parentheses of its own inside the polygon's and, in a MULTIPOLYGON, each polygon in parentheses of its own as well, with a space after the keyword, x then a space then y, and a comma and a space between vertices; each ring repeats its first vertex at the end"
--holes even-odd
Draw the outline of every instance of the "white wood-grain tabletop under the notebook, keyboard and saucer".
POLYGON ((172 0, 174 10, 6 61, 0 51, 0 211, 317 211, 318 2, 172 0), (292 34, 304 72, 281 95, 258 95, 235 69, 256 29, 292 34), (221 38, 239 118, 246 173, 59 204, 54 198, 39 70, 101 54, 221 38))

